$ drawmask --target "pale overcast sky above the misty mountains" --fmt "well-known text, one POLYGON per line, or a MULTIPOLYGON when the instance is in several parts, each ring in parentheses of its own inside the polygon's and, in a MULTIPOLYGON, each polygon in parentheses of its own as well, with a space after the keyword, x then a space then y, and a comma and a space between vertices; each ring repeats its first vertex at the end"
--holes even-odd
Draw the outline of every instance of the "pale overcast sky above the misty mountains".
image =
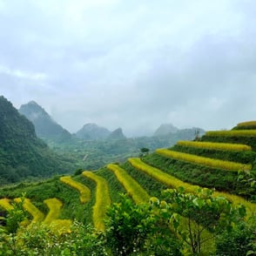
POLYGON ((71 132, 256 119, 256 1, 0 0, 0 95, 71 132))

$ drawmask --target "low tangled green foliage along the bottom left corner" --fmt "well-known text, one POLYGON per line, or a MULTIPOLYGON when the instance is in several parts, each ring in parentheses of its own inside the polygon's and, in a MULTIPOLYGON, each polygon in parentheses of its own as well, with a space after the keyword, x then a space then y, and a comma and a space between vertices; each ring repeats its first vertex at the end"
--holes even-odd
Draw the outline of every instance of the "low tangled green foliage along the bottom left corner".
POLYGON ((74 222, 71 232, 61 236, 52 232, 49 226, 39 223, 32 223, 12 235, 0 230, 0 255, 101 256, 109 254, 104 247, 104 238, 95 234, 91 226, 74 222))

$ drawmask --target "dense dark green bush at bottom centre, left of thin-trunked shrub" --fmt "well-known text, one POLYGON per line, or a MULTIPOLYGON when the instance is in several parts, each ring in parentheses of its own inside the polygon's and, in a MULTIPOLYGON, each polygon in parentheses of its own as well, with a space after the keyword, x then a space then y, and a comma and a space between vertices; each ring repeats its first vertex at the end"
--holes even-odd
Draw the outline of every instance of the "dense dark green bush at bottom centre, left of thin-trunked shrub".
POLYGON ((113 255, 181 254, 167 219, 160 222, 150 204, 134 205, 124 196, 120 203, 111 206, 107 215, 105 235, 113 255))

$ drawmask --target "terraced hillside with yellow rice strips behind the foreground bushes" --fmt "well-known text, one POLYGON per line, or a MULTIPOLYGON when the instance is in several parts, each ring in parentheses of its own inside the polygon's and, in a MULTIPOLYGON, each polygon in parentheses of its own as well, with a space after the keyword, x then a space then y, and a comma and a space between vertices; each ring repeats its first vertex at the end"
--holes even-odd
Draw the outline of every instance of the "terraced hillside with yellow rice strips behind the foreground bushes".
POLYGON ((77 219, 103 231, 107 209, 121 200, 121 193, 141 204, 152 197, 164 199, 162 192, 168 188, 183 187, 185 193, 197 194, 199 188, 207 187, 214 189, 213 197, 245 205, 249 218, 256 212, 256 195, 245 177, 256 172, 255 159, 256 125, 239 124, 232 131, 208 131, 197 141, 179 141, 172 148, 130 158, 123 165, 2 188, 0 210, 11 209, 11 200, 25 192, 24 209, 30 222, 56 221, 68 230, 71 220, 77 219))

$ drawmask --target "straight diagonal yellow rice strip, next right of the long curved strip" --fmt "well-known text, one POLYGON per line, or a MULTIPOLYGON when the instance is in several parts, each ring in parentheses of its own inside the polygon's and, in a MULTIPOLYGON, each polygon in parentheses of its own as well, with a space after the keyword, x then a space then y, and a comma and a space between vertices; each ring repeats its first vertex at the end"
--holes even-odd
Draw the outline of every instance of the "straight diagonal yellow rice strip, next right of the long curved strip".
POLYGON ((120 168, 118 165, 107 165, 107 168, 115 173, 118 181, 124 185, 126 192, 131 196, 135 203, 139 204, 149 201, 149 194, 135 179, 132 179, 124 169, 120 168))

